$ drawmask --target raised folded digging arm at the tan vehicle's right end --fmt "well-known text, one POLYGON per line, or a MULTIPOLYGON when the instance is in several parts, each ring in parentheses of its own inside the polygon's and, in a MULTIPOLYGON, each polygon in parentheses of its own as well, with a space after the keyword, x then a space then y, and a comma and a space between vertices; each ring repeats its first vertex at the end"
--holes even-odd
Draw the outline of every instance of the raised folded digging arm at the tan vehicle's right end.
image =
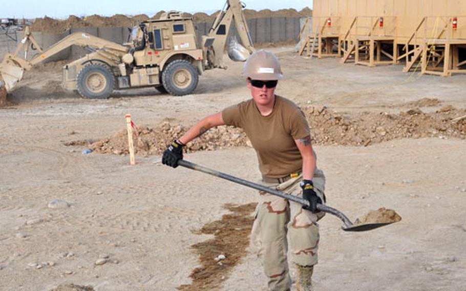
POLYGON ((235 22, 242 46, 235 40, 230 41, 228 56, 235 61, 244 61, 255 51, 243 8, 244 5, 239 0, 227 0, 224 8, 210 27, 207 36, 203 36, 202 47, 206 52, 207 69, 225 68, 222 60, 223 52, 232 22, 235 22))

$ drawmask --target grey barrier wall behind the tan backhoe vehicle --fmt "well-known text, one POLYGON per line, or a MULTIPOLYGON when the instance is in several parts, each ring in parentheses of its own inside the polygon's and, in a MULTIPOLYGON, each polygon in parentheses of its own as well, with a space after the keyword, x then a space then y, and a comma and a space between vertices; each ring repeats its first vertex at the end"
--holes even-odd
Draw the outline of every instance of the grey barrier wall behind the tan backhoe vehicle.
MULTIPOLYGON (((277 41, 287 41, 294 39, 298 41, 298 35, 300 33, 300 18, 301 17, 264 17, 264 18, 251 18, 247 20, 249 32, 253 44, 261 43, 274 43, 277 41)), ((197 23, 197 39, 200 45, 201 36, 206 35, 211 26, 211 23, 197 23)), ((46 32, 33 32, 32 35, 37 40, 37 43, 46 50, 53 44, 55 44, 61 38, 75 32, 86 32, 103 39, 114 41, 115 43, 125 43, 128 40, 129 30, 127 27, 82 27, 72 28, 65 33, 55 34, 46 32)), ((234 25, 230 26, 230 36, 236 35, 238 41, 238 33, 234 25)), ((21 41, 23 37, 23 31, 16 32, 17 43, 21 41)), ((11 40, 0 42, 0 58, 10 52, 14 52, 16 44, 12 43, 11 40)), ((57 61, 62 59, 76 59, 87 51, 83 48, 72 46, 69 49, 63 50, 60 53, 49 58, 47 61, 57 61)), ((31 51, 31 56, 34 55, 34 51, 31 51)))

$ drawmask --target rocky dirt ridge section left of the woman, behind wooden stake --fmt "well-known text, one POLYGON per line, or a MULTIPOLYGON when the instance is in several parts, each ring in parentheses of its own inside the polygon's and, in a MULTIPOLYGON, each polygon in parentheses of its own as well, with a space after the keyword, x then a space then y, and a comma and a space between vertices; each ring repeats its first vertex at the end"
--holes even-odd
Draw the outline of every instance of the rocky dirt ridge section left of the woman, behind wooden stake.
MULTIPOLYGON (((135 154, 160 155, 174 139, 181 137, 188 128, 172 126, 169 122, 163 122, 159 127, 141 127, 135 138, 135 154)), ((214 151, 230 147, 244 147, 249 142, 241 129, 234 127, 213 128, 186 144, 186 152, 200 150, 214 151)), ((117 132, 113 137, 106 138, 91 144, 90 149, 104 154, 126 155, 128 150, 128 134, 126 130, 117 132)))

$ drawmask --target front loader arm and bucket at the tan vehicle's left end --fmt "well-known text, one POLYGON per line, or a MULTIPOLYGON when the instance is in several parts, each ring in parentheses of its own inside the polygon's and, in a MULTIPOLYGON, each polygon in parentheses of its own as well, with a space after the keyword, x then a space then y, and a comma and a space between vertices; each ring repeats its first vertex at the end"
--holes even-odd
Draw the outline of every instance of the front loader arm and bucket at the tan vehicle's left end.
POLYGON ((129 47, 119 45, 113 41, 105 40, 88 33, 76 32, 61 39, 44 51, 35 41, 29 27, 26 27, 24 37, 16 51, 13 54, 7 54, 2 63, 0 63, 0 90, 3 89, 3 91, 7 92, 11 91, 16 83, 23 78, 25 70, 30 70, 34 65, 37 65, 41 61, 44 61, 54 54, 73 45, 101 50, 102 53, 108 54, 109 56, 122 56, 128 53, 130 49, 129 47), (28 60, 30 47, 37 49, 40 54, 28 60), (19 52, 22 49, 24 49, 24 57, 19 56, 19 52))

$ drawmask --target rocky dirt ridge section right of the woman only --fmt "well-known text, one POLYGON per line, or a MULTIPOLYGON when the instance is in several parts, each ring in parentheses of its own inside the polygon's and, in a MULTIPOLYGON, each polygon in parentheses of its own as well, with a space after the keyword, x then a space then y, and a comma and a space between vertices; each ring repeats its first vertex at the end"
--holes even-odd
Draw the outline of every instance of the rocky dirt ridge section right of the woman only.
MULTIPOLYGON (((448 108, 447 108, 448 109, 448 108)), ((455 137, 466 138, 466 121, 450 122, 466 113, 464 109, 423 113, 419 109, 389 114, 362 112, 343 115, 326 107, 303 109, 309 120, 315 144, 369 146, 396 138, 455 137)))

